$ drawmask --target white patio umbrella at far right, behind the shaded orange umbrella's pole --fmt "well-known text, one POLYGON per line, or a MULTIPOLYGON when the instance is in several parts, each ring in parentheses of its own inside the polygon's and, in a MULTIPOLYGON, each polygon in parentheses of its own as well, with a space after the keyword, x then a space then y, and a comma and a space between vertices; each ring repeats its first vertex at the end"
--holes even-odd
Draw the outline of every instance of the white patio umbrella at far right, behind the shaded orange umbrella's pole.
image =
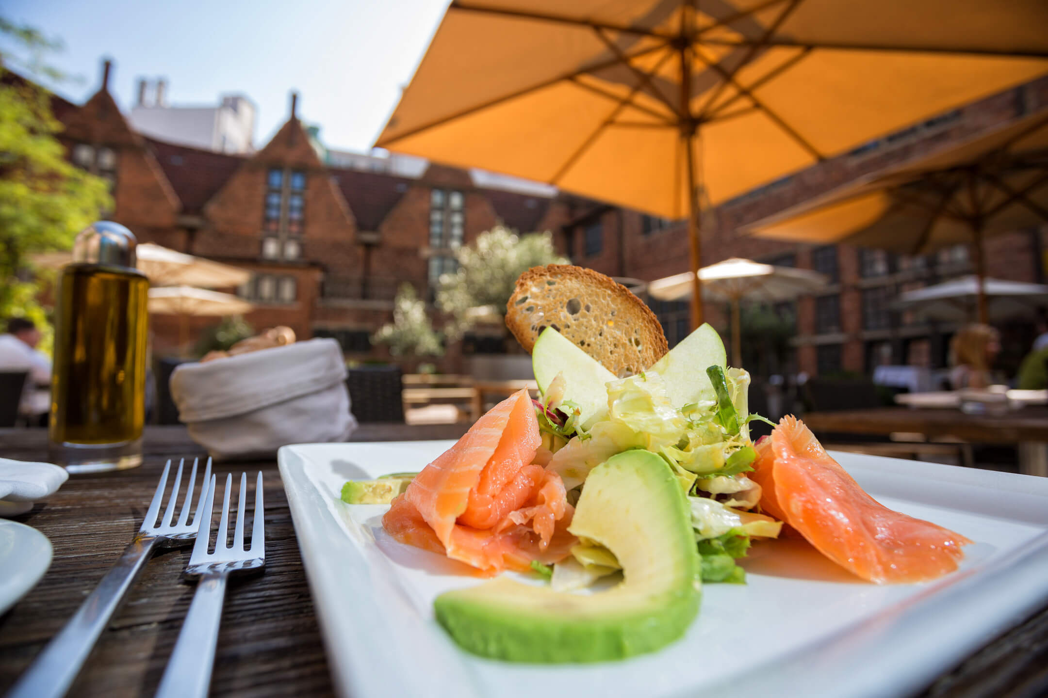
MULTIPOLYGON (((986 308, 991 320, 1033 315, 1038 307, 1048 305, 1048 286, 983 279, 986 308)), ((961 276, 899 295, 894 306, 926 318, 946 322, 969 322, 976 316, 979 302, 979 279, 976 275, 961 276)))

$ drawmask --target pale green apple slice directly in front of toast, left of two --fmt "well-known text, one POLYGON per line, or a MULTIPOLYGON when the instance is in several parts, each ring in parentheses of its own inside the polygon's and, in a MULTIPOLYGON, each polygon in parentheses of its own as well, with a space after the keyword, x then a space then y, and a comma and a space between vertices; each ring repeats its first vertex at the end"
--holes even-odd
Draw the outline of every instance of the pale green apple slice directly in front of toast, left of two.
POLYGON ((531 347, 531 368, 543 395, 558 374, 564 376, 564 400, 578 407, 578 424, 584 429, 608 419, 605 384, 615 380, 615 375, 556 330, 546 328, 539 335, 531 347))

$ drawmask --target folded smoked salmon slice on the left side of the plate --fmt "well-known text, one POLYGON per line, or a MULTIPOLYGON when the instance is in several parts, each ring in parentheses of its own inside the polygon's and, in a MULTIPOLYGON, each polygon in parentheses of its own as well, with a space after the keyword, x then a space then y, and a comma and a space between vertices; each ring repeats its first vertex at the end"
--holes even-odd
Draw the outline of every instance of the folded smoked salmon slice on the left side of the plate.
POLYGON ((542 443, 527 390, 492 408, 393 500, 383 527, 402 543, 494 575, 556 562, 575 540, 560 475, 533 463, 542 443))

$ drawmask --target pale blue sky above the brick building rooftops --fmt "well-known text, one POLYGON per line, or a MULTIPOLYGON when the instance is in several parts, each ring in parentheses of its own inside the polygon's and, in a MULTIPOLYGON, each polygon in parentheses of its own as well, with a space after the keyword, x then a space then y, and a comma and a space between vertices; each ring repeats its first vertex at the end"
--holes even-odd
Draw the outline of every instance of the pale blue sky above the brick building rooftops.
MULTIPOLYGON (((0 14, 61 39, 49 63, 82 77, 50 86, 82 103, 114 61, 110 91, 125 111, 138 77, 168 80, 172 105, 242 92, 258 106, 263 144, 287 118, 322 127, 329 147, 370 148, 422 58, 447 0, 6 0, 0 14)), ((7 46, 9 47, 9 46, 7 46)))

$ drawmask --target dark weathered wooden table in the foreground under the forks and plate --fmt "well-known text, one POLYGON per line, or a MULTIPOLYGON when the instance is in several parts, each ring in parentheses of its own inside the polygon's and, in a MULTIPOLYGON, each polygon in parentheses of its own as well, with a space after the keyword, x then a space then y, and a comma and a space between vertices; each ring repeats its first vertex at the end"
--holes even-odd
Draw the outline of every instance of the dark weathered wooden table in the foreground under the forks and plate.
MULTIPOLYGON (((362 425, 353 441, 457 438, 468 425, 362 425)), ((0 455, 45 458, 43 430, 0 430, 0 455)), ((46 504, 15 520, 54 547, 40 583, 0 617, 0 694, 94 588, 141 523, 168 457, 201 453, 182 427, 150 427, 145 463, 118 473, 77 475, 46 504)), ((212 696, 333 694, 324 645, 275 460, 220 464, 261 470, 265 481, 265 573, 234 582, 226 595, 212 696)), ((72 696, 152 696, 193 595, 182 581, 190 548, 161 551, 102 635, 72 696)), ((1048 584, 1048 581, 1046 581, 1048 584)), ((963 609, 958 609, 963 612, 963 609)), ((940 677, 925 698, 1019 698, 1048 691, 1048 608, 940 677)))

